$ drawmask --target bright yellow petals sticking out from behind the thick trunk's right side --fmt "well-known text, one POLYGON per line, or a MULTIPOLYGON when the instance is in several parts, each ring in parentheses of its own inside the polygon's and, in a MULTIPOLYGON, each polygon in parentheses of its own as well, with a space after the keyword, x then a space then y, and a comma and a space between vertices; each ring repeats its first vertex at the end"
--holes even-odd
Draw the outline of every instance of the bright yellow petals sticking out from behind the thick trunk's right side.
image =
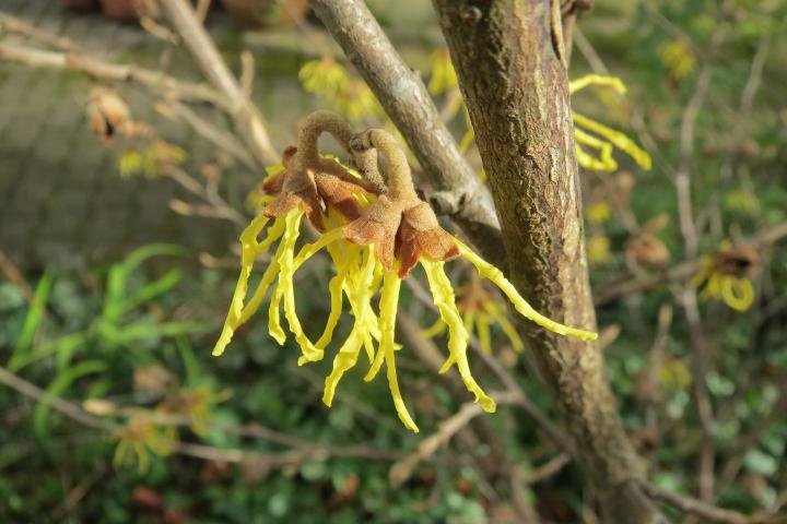
MULTIPOLYGON (((620 94, 625 94, 623 82, 615 76, 588 74, 569 82, 568 91, 574 94, 589 85, 609 87, 620 94)), ((585 169, 597 171, 614 171, 618 163, 612 158, 612 148, 618 147, 631 156, 643 169, 650 169, 650 155, 637 146, 629 136, 614 129, 574 111, 574 139, 576 140, 577 162, 585 169), (591 134, 594 133, 594 134, 591 134), (597 156, 588 153, 583 146, 597 151, 597 156)))

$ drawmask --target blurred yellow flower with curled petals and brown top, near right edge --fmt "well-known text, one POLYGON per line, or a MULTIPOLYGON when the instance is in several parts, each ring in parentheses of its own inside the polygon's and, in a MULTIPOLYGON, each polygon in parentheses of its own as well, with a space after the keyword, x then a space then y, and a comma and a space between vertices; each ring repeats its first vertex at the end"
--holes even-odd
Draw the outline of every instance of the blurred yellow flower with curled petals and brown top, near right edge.
POLYGON ((720 298, 736 311, 745 311, 754 303, 754 285, 749 275, 760 259, 745 248, 724 246, 713 257, 702 261, 702 269, 692 278, 692 285, 702 288, 700 298, 720 298))

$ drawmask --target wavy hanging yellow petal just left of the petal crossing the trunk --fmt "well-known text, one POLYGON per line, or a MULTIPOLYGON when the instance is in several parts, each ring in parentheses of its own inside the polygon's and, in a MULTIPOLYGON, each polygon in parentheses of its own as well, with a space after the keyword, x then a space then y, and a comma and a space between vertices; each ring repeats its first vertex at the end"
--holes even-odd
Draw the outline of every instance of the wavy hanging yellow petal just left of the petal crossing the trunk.
MULTIPOLYGON (((470 362, 467 358, 467 342, 469 336, 456 306, 454 287, 444 271, 445 262, 422 258, 421 265, 423 265, 426 271, 426 278, 428 279, 435 306, 437 306, 443 321, 448 325, 448 350, 450 353, 450 359, 456 362, 465 386, 475 395, 475 402, 481 404, 481 407, 485 412, 494 412, 496 408, 494 400, 484 393, 470 371, 470 362)), ((447 369, 446 366, 443 366, 443 370, 445 369, 447 369)))

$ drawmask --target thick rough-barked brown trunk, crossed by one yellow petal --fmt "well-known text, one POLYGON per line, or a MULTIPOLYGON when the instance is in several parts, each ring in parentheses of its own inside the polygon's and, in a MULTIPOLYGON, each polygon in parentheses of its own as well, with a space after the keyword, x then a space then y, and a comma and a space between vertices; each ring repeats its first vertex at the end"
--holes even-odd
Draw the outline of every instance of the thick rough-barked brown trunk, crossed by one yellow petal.
MULTIPOLYGON (((489 175, 507 273, 542 313, 595 330, 560 13, 549 0, 435 5, 489 175)), ((661 522, 638 487, 643 472, 601 352, 522 324, 606 522, 661 522)))

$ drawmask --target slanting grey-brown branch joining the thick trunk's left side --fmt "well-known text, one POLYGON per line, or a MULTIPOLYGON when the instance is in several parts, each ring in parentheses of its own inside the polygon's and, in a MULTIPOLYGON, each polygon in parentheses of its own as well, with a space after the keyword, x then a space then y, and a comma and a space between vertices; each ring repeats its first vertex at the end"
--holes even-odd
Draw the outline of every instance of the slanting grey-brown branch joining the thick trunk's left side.
POLYGON ((462 157, 421 78, 401 61, 359 0, 309 0, 309 5, 355 66, 438 189, 428 195, 488 259, 503 259, 489 190, 462 157))

